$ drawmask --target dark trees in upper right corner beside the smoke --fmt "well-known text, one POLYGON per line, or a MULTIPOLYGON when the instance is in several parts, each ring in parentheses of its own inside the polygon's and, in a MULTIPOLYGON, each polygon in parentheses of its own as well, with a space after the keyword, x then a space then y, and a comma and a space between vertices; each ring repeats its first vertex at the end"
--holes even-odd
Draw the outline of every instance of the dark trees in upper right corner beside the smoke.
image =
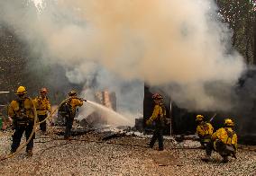
POLYGON ((248 64, 256 64, 256 2, 255 0, 215 0, 224 22, 233 30, 233 47, 248 64))

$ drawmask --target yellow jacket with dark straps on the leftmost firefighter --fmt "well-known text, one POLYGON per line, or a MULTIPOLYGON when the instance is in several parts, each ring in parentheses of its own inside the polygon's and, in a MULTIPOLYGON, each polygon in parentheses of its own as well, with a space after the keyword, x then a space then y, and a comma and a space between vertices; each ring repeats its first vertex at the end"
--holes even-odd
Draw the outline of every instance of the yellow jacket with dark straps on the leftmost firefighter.
POLYGON ((8 107, 8 115, 11 119, 34 119, 33 102, 25 97, 23 100, 14 100, 8 107))

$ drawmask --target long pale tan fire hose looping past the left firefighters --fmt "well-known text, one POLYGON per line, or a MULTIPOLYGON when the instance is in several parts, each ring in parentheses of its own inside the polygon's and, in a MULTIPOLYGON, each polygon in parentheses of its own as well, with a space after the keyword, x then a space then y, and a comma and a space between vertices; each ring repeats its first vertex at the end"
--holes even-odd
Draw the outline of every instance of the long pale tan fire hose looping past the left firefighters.
MULTIPOLYGON (((31 98, 29 98, 29 99, 30 99, 30 101, 32 101, 31 98)), ((58 110, 59 107, 60 107, 64 102, 68 101, 69 99, 71 99, 71 98, 68 98, 68 99, 65 99, 64 101, 61 101, 61 102, 59 103, 59 106, 58 106, 55 110, 53 110, 53 111, 50 113, 50 115, 46 117, 46 119, 43 119, 43 120, 40 121, 40 122, 37 122, 37 112, 36 112, 35 105, 34 105, 34 103, 33 103, 33 101, 32 101, 32 106, 33 106, 32 110, 33 110, 33 113, 34 113, 34 120, 33 120, 33 129, 32 129, 32 133, 31 133, 30 137, 28 138, 28 140, 27 140, 26 142, 24 142, 22 145, 20 145, 20 146, 18 147, 18 149, 14 152, 14 154, 8 154, 8 155, 5 156, 4 158, 1 158, 0 161, 4 161, 4 160, 6 160, 6 159, 8 159, 8 158, 13 157, 15 154, 19 154, 19 153, 22 151, 22 149, 23 149, 27 144, 29 144, 29 142, 32 140, 32 136, 34 135, 34 133, 35 133, 35 131, 36 131, 37 125, 41 124, 42 122, 46 121, 47 119, 50 119, 50 117, 52 116, 52 114, 55 113, 56 110, 58 110)))

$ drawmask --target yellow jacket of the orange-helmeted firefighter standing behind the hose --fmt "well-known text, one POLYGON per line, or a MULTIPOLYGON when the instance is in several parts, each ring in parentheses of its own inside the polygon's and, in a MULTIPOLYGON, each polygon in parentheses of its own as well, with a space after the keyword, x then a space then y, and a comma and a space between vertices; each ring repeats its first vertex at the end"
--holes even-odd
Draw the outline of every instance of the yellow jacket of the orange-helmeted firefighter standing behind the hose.
POLYGON ((42 98, 41 96, 36 97, 34 105, 37 111, 37 115, 46 115, 50 111, 50 101, 47 97, 42 98))

